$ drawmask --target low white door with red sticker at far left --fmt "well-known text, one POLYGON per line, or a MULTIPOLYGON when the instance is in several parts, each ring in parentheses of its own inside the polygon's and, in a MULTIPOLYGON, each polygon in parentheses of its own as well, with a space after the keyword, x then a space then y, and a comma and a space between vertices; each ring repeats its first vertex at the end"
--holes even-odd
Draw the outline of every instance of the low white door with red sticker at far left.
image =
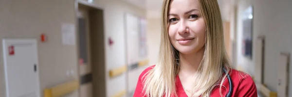
POLYGON ((40 97, 37 41, 3 39, 6 97, 40 97))

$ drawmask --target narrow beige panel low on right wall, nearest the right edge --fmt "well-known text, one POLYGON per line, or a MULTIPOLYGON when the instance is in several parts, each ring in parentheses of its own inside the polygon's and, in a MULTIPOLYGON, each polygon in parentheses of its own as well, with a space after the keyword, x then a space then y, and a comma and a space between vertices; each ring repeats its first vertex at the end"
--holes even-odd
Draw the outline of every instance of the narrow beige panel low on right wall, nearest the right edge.
POLYGON ((278 64, 278 97, 288 97, 289 55, 281 53, 278 64))

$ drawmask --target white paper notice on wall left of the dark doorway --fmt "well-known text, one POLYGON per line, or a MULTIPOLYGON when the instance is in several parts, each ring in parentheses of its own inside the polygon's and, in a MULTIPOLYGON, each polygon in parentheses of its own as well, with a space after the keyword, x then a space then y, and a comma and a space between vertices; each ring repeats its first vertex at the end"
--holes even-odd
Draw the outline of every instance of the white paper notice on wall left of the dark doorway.
POLYGON ((75 45, 75 27, 74 24, 62 24, 62 43, 63 45, 75 45))

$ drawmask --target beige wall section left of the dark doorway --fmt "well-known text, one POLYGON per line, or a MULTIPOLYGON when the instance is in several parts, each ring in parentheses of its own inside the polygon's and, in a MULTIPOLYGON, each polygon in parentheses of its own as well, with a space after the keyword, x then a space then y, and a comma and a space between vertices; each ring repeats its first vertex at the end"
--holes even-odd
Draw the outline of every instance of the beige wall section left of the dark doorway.
MULTIPOLYGON (((61 24, 75 24, 74 0, 0 0, 0 40, 36 38, 48 35, 47 43, 38 41, 40 89, 77 78, 76 46, 64 46, 61 24), (75 73, 67 76, 66 71, 75 73)), ((0 97, 5 97, 5 81, 0 42, 0 97)), ((25 84, 25 83, 24 83, 25 84)), ((76 97, 74 93, 72 97, 76 97)))

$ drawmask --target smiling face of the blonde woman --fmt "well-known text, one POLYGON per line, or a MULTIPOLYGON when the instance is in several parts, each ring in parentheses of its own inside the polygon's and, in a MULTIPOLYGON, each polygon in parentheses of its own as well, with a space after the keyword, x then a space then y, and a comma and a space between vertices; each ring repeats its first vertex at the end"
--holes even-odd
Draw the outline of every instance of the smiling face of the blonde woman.
POLYGON ((168 12, 171 44, 183 54, 196 53, 205 43, 205 22, 198 0, 172 0, 168 12))

